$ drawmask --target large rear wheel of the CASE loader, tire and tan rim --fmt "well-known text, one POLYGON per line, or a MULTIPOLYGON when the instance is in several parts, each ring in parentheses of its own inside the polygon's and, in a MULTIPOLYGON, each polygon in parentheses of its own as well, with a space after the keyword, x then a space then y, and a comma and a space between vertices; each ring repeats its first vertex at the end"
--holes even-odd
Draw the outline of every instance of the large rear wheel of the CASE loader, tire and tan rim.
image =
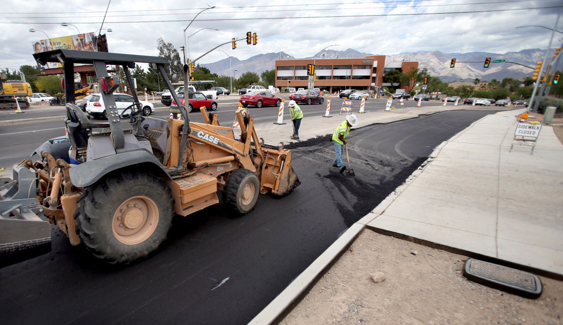
POLYGON ((166 239, 174 216, 164 181, 151 173, 125 172, 88 186, 74 214, 86 248, 110 264, 149 255, 166 239))

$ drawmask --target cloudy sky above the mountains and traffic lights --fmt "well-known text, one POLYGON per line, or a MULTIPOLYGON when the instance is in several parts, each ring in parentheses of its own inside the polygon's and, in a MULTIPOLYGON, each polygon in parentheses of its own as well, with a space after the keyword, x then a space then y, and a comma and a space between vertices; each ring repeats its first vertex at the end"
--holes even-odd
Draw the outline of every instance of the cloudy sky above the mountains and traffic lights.
MULTIPOLYGON (((34 65, 34 41, 111 28, 111 52, 158 55, 157 39, 172 43, 178 51, 186 30, 191 57, 197 57, 231 38, 243 38, 236 50, 231 44, 203 57, 200 63, 240 60, 268 52, 286 52, 311 57, 324 47, 354 48, 360 52, 392 55, 401 52, 506 52, 547 48, 562 0, 286 0, 244 2, 123 1, 123 0, 2 0, 0 14, 0 68, 34 65), (48 5, 47 5, 48 3, 48 5), (109 7, 108 7, 109 3, 109 7), (258 5, 262 3, 263 5, 258 5), (270 5, 266 5, 269 3, 270 5), (102 20, 105 21, 102 26, 102 20), (27 10, 27 11, 26 11, 27 10), (74 26, 61 26, 66 22, 74 26), (204 29, 207 28, 207 29, 204 29), (212 30, 213 29, 218 29, 212 30), (200 30, 203 29, 203 30, 200 30), (246 32, 258 34, 256 46, 247 45, 246 32), (195 34, 194 34, 195 33, 195 34)), ((563 14, 562 14, 563 16, 563 14)), ((563 17, 557 24, 563 31, 563 17)), ((560 46, 556 33, 553 45, 560 46)), ((181 52, 180 52, 181 54, 181 52)))

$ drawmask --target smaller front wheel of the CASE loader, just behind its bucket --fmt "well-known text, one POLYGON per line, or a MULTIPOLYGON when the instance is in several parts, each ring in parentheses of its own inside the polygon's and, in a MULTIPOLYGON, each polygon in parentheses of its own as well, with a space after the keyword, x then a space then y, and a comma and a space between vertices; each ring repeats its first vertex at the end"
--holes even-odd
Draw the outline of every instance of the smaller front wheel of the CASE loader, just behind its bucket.
POLYGON ((223 202, 240 215, 250 212, 260 194, 260 180, 256 173, 238 169, 229 175, 223 189, 223 202))

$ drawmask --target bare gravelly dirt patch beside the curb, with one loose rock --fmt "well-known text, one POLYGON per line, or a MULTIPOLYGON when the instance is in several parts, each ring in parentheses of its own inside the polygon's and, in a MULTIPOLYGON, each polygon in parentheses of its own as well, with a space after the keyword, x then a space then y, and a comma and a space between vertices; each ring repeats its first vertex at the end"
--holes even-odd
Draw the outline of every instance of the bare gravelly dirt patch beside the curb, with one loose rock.
POLYGON ((279 324, 561 324, 563 282, 526 299, 468 281, 466 260, 365 229, 279 324))

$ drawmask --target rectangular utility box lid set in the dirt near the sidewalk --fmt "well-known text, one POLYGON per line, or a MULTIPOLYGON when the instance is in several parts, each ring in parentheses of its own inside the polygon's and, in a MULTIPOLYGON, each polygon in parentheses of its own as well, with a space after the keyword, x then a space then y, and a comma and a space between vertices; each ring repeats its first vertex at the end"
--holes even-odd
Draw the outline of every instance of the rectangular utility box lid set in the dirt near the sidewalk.
POLYGON ((468 259, 463 273, 471 281, 515 295, 536 299, 542 294, 542 282, 537 275, 506 266, 468 259))

